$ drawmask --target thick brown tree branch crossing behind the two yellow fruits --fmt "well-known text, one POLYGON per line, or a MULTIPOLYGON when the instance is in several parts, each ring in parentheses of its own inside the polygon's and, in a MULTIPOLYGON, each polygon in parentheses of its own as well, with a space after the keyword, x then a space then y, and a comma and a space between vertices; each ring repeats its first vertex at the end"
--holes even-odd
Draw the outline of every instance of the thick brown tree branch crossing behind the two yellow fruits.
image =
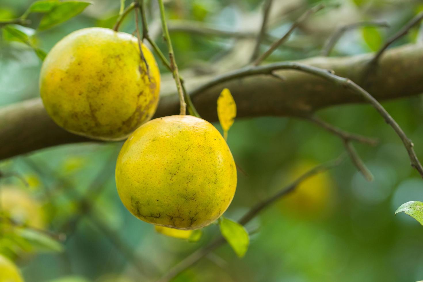
MULTIPOLYGON (((372 54, 353 57, 315 57, 299 61, 310 66, 332 69, 364 85, 363 73, 372 54)), ((423 92, 422 45, 407 45, 387 50, 380 58, 378 71, 365 89, 377 100, 417 95, 423 92)), ((211 77, 188 78, 187 90, 196 88, 192 102, 201 117, 216 121, 216 101, 223 88, 229 88, 237 104, 238 117, 306 116, 332 105, 364 102, 363 97, 327 82, 320 77, 292 70, 276 71, 286 81, 270 75, 233 78, 209 88, 198 85, 211 77)), ((154 118, 179 112, 173 81, 162 83, 162 95, 154 118)), ((191 92, 192 93, 192 92, 191 92)), ((96 142, 64 131, 47 115, 40 99, 31 99, 0 109, 0 159, 41 148, 73 143, 96 142)))

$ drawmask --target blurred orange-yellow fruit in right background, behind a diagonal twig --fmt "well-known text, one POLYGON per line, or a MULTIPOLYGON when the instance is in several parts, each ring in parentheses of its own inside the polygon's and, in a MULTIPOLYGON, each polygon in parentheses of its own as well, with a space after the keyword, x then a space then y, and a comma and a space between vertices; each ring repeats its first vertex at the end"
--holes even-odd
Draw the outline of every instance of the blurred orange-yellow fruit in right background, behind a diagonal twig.
MULTIPOLYGON (((318 163, 301 161, 288 172, 286 184, 294 181, 318 163)), ((332 208, 334 187, 328 172, 320 172, 302 181, 294 192, 284 196, 279 203, 280 208, 288 216, 300 218, 316 218, 323 216, 332 208)))

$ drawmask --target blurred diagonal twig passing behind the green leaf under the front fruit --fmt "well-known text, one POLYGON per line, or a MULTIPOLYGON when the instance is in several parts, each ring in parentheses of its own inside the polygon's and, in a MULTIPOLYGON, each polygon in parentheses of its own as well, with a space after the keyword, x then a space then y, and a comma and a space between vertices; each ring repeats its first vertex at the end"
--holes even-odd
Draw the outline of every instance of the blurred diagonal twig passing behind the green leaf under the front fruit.
MULTIPOLYGON (((319 172, 323 172, 326 170, 330 170, 333 167, 338 166, 343 161, 343 155, 341 155, 338 159, 335 159, 333 161, 327 162, 325 164, 321 164, 317 167, 314 167, 312 170, 309 170, 305 174, 301 175, 297 180, 292 182, 290 185, 286 186, 285 188, 281 189, 279 192, 277 192, 275 195, 267 198, 266 200, 256 204, 253 208, 251 208, 244 216, 238 221, 241 225, 246 225, 248 222, 250 222, 251 219, 253 219, 259 212, 261 212, 264 208, 268 207, 272 203, 274 203, 276 200, 280 199, 284 195, 294 191, 295 188, 302 182, 305 181, 307 178, 310 178, 313 175, 316 175, 319 172)), ((164 276, 162 276, 157 282, 168 282, 176 275, 180 274, 182 271, 186 270, 190 266, 197 263, 201 258, 208 255, 210 252, 212 252, 214 249, 217 249, 219 246, 225 244, 225 239, 222 236, 219 236, 219 238, 212 241, 207 246, 197 249, 195 252, 193 252, 191 255, 185 257, 181 262, 176 264, 173 268, 170 269, 164 276)))

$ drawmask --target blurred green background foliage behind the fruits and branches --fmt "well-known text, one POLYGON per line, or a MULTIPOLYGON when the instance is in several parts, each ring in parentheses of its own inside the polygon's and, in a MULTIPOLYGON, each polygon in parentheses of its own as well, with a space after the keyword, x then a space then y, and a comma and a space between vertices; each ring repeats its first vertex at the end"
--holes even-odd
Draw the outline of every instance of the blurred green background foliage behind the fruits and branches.
MULTIPOLYGON (((20 16, 32 2, 0 0, 0 19, 20 16)), ((279 15, 269 23, 270 35, 280 36, 299 14, 316 3, 275 0, 279 9, 272 9, 272 13, 278 11, 279 15)), ((332 55, 371 52, 423 10, 423 2, 418 0, 336 3, 338 8, 327 8, 301 25, 270 59, 297 60, 318 55, 338 27, 362 20, 385 20, 389 28, 349 31, 332 55)), ((170 27, 190 20, 199 26, 213 25, 234 32, 258 31, 260 5, 260 0, 166 2, 170 27)), ((117 0, 94 0, 82 14, 37 32, 30 40, 48 52, 74 30, 112 27, 118 9, 117 0)), ((155 1, 148 3, 148 9, 154 31, 158 19, 155 1)), ((29 27, 36 27, 41 15, 31 14, 29 19, 33 22, 29 27)), ((134 31, 133 16, 124 21, 121 31, 134 31)), ((414 43, 417 36, 418 28, 412 29, 395 45, 414 43)), ((159 47, 165 50, 163 40, 160 36, 156 38, 159 47)), ((36 53, 4 34, 0 40, 0 106, 37 97, 41 62, 36 53)), ((244 47, 254 43, 254 38, 204 36, 186 31, 173 31, 172 40, 179 67, 194 74, 214 74, 221 72, 223 66, 233 67, 237 57, 250 56, 243 53, 244 47)), ((269 41, 265 41, 262 50, 266 44, 269 41)), ((166 72, 163 66, 160 68, 162 73, 166 72)), ((423 156, 421 97, 383 105, 414 141, 418 156, 423 156)), ((401 141, 368 105, 332 107, 319 112, 319 116, 343 129, 380 138, 374 148, 357 144, 375 180, 365 181, 349 161, 311 178, 295 194, 250 222, 247 229, 254 232, 244 258, 238 259, 226 245, 175 281, 423 279, 423 228, 404 214, 394 216, 402 203, 423 200, 421 179, 409 166, 401 141)), ((237 164, 246 172, 239 172, 237 192, 225 214, 231 219, 239 219, 259 199, 281 189, 313 164, 333 159, 343 151, 337 137, 313 124, 275 117, 236 119, 228 144, 237 164)), ((144 281, 140 271, 157 277, 219 233, 218 227, 211 225, 198 242, 169 238, 129 214, 119 200, 113 176, 121 145, 121 142, 63 145, 0 163, 2 172, 19 173, 28 183, 25 186, 17 178, 0 180, 2 214, 14 219, 0 224, 0 252, 14 260, 26 281, 144 281), (16 226, 17 223, 25 228, 16 226), (39 229, 47 234, 40 236, 39 229), (52 237, 60 244, 48 240, 52 237)))

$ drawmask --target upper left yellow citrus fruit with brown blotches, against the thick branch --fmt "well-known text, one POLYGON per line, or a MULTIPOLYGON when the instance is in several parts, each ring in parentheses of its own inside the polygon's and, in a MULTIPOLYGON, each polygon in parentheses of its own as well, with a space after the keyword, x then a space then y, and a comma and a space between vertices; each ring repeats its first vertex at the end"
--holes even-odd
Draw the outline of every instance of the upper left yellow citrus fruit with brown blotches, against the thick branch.
POLYGON ((40 93, 49 116, 64 129, 100 140, 126 138, 150 120, 160 73, 137 38, 107 28, 77 30, 60 40, 41 67, 40 93))

